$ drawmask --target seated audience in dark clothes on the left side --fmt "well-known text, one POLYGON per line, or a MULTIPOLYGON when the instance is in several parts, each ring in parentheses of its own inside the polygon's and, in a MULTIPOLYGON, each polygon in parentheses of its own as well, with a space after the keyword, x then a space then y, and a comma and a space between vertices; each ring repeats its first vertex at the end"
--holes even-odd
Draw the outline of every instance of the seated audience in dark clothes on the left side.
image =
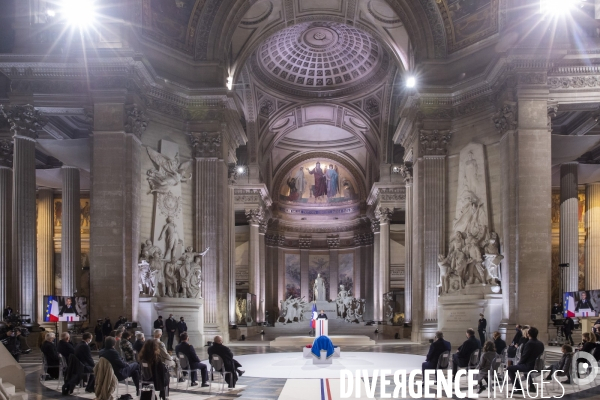
MULTIPOLYGON (((98 365, 103 359, 110 364, 110 369, 118 381, 127 379, 133 381, 137 396, 140 395, 140 382, 143 378, 144 381, 153 381, 155 390, 160 392, 161 399, 165 399, 168 396, 171 372, 176 379, 183 382, 189 370, 190 385, 198 386, 197 371, 200 371, 201 387, 209 386, 208 367, 200 361, 194 346, 190 343, 187 325, 183 317, 176 322, 173 315, 170 314, 164 322, 162 317, 159 316, 154 321, 154 331, 151 339, 146 339, 143 332, 132 334, 126 330, 126 326, 126 319, 122 317, 119 317, 114 327, 109 318, 98 320, 94 335, 88 332, 84 333, 82 341, 77 346, 74 346, 71 342, 68 332, 63 332, 58 342, 56 342, 54 333, 46 333, 45 340, 40 347, 47 366, 44 380, 59 378, 62 357, 64 360, 62 363, 63 377, 65 379, 63 393, 71 393, 74 389, 74 385, 69 386, 71 378, 66 372, 66 364, 68 363, 70 366, 70 360, 79 361, 81 364, 79 371, 83 374, 83 377, 87 377, 86 374, 89 374, 85 388, 86 392, 89 393, 94 391, 96 391, 96 394, 98 393, 99 389, 98 385, 95 385, 95 375, 100 370, 98 365), (167 344, 162 340, 165 329, 167 344), (179 343, 173 349, 176 334, 179 343), (94 362, 90 348, 94 336, 96 347, 100 350, 98 363, 94 362), (184 360, 187 366, 180 363, 181 356, 185 356, 184 360)), ((241 365, 233 358, 231 350, 223 345, 221 336, 216 336, 213 345, 208 348, 209 361, 212 361, 214 355, 218 355, 223 360, 224 370, 231 372, 231 374, 226 374, 225 377, 229 387, 235 387, 238 377, 244 371, 240 369, 241 365)), ((68 370, 70 369, 69 367, 68 370)), ((77 384, 80 380, 78 377, 73 382, 77 384)), ((102 382, 105 381, 102 380, 102 382)))

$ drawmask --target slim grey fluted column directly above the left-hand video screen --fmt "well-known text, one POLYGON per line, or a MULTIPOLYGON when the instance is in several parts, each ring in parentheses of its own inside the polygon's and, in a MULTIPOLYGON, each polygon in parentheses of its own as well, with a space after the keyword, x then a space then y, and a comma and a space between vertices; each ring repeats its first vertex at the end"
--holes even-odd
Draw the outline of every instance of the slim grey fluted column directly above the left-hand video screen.
POLYGON ((73 296, 77 289, 77 270, 81 268, 81 206, 79 169, 62 167, 62 295, 73 296))

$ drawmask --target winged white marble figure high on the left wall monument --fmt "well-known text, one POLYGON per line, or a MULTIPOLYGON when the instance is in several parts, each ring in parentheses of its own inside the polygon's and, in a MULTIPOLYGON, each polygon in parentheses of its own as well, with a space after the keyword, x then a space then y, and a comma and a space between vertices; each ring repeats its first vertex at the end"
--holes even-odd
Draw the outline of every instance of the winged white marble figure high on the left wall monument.
POLYGON ((192 161, 180 163, 179 154, 175 154, 174 158, 166 157, 164 154, 147 147, 150 159, 157 166, 157 169, 150 169, 147 172, 147 180, 150 184, 150 193, 166 194, 170 188, 179 185, 181 182, 186 182, 192 177, 188 172, 192 161))

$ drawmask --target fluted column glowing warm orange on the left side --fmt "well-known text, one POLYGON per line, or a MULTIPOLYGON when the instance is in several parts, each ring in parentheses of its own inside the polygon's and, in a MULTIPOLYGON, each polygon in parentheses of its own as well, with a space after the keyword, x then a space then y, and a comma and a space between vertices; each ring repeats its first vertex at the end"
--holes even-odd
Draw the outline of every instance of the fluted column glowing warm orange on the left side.
MULTIPOLYGON (((64 209, 63 209, 64 210, 64 209)), ((42 301, 44 296, 54 293, 54 193, 52 189, 38 191, 37 207, 37 295, 42 301)), ((64 211, 63 211, 64 212, 64 211)), ((42 321, 44 308, 37 312, 37 320, 42 321)))

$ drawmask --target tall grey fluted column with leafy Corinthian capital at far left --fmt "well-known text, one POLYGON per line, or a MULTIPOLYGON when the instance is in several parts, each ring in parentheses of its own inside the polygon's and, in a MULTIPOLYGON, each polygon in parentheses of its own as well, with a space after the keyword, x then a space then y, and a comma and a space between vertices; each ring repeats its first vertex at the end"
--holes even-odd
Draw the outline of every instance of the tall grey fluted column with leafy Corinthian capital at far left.
POLYGON ((2 108, 14 138, 12 204, 12 271, 13 309, 21 314, 37 315, 37 243, 35 142, 37 131, 46 123, 33 106, 2 108))

